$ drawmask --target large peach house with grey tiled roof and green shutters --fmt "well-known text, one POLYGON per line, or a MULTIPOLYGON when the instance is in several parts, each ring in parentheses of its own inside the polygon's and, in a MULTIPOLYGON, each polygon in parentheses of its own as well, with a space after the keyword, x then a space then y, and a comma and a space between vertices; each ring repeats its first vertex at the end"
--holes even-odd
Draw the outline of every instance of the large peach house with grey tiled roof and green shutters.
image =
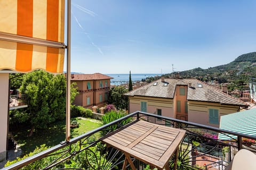
MULTIPOLYGON (((142 111, 219 127, 221 115, 248 107, 221 89, 196 79, 159 79, 125 94, 129 111, 142 111)), ((161 120, 150 120, 161 123, 161 120)))

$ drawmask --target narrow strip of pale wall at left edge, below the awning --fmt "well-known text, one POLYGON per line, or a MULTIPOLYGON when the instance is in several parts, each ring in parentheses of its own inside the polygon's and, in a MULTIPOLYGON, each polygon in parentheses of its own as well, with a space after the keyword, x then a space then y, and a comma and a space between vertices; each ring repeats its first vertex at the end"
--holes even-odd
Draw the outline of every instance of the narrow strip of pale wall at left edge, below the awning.
POLYGON ((6 158, 9 73, 0 73, 0 161, 6 158))

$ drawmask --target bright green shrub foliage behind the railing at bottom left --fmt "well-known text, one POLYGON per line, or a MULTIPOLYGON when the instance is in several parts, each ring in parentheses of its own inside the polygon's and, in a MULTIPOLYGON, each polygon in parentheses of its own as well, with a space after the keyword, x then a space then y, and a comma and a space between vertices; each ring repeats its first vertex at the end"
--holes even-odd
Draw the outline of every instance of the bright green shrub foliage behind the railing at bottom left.
MULTIPOLYGON (((79 149, 83 149, 86 146, 82 145, 80 146, 78 143, 73 145, 71 147, 70 152, 77 151, 79 149), (80 148, 81 147, 81 148, 80 148)), ((89 149, 86 149, 79 154, 74 155, 70 159, 68 159, 66 162, 60 163, 57 165, 57 168, 84 168, 84 169, 99 169, 100 167, 104 167, 104 169, 110 169, 111 163, 109 163, 106 159, 106 154, 102 154, 101 150, 102 148, 105 148, 106 146, 101 145, 98 143, 98 145, 94 147, 90 147, 89 149), (90 165, 87 163, 89 162, 90 165)), ((27 170, 27 169, 43 169, 50 163, 52 163, 55 159, 59 158, 62 155, 62 152, 65 151, 67 148, 60 149, 59 151, 55 152, 55 154, 52 154, 50 157, 45 157, 41 160, 38 160, 36 162, 33 162, 21 169, 27 170)), ((28 157, 31 157, 35 154, 38 154, 39 152, 42 152, 44 150, 48 149, 45 147, 45 145, 42 145, 41 147, 37 147, 33 152, 30 152, 30 154, 23 156, 22 158, 17 158, 13 161, 8 161, 5 164, 5 167, 10 166, 14 163, 17 163, 23 159, 26 159, 28 157)))

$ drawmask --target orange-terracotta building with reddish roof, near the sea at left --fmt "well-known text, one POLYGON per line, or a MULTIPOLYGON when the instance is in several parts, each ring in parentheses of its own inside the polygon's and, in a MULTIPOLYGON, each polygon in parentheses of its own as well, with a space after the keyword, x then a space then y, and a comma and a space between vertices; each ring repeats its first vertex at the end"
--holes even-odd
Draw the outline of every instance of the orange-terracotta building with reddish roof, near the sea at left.
POLYGON ((110 79, 101 73, 71 74, 71 83, 76 82, 79 94, 74 104, 83 107, 102 106, 108 100, 110 79))

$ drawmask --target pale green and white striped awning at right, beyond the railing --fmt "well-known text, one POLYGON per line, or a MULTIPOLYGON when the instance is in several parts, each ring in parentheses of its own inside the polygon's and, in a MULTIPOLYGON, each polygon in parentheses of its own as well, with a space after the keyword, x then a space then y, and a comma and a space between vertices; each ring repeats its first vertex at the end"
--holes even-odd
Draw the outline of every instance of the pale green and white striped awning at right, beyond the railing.
MULTIPOLYGON (((220 129, 256 136, 256 108, 221 116, 220 129)), ((236 139, 237 137, 234 135, 228 137, 221 133, 218 137, 220 140, 231 140, 232 138, 236 139)))

